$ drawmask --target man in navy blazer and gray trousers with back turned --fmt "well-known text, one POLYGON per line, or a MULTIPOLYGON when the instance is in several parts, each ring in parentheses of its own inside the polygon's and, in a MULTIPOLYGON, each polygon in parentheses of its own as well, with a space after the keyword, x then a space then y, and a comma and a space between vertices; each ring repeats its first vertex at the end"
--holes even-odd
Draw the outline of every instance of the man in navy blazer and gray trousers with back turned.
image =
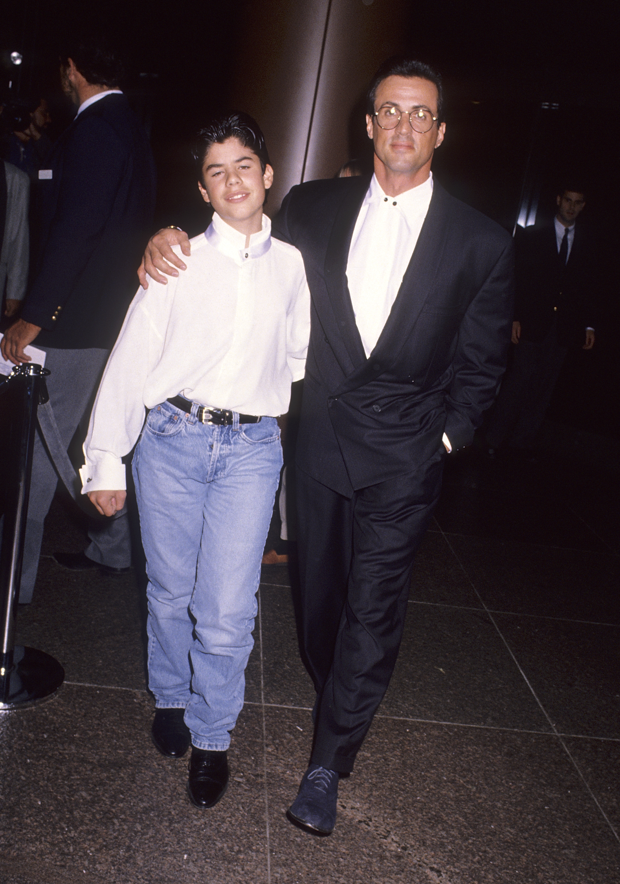
MULTIPOLYGON (((19 600, 32 598, 42 527, 57 485, 73 472, 66 449, 96 390, 135 288, 155 203, 155 166, 146 134, 122 94, 118 55, 103 41, 78 40, 61 57, 64 91, 79 105, 39 171, 34 283, 2 341, 4 358, 46 352, 50 402, 42 406, 27 516, 19 600)), ((65 567, 118 573, 130 565, 126 514, 90 532, 86 554, 59 552, 65 567)))

